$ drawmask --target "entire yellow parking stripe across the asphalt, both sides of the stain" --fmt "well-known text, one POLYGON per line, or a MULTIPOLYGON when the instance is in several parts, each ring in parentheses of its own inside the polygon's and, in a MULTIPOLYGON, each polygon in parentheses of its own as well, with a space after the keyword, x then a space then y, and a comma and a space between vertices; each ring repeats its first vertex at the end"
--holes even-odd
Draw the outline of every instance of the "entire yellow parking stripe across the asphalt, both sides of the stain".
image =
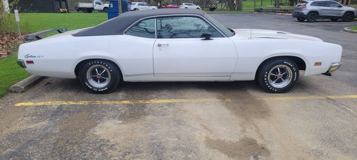
MULTIPOLYGON (((237 97, 239 101, 239 97, 237 97)), ((258 100, 307 100, 307 99, 341 99, 357 98, 357 95, 341 96, 295 96, 295 97, 265 97, 258 100)), ((136 104, 136 103, 178 103, 178 102, 228 102, 225 100, 201 98, 201 99, 168 99, 168 100, 139 100, 139 101, 52 101, 52 102, 24 102, 16 103, 15 106, 43 106, 43 105, 100 105, 100 104, 136 104)))

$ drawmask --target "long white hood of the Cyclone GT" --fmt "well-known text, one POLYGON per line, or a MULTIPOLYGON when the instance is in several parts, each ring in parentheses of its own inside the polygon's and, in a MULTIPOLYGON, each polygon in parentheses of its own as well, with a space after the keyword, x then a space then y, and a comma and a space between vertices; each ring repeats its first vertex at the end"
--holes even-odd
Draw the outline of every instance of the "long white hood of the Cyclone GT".
POLYGON ((236 35, 252 38, 278 38, 278 39, 301 39, 307 41, 323 42, 320 38, 305 36, 301 34, 293 34, 289 32, 274 31, 274 30, 258 30, 258 29, 233 29, 236 35))

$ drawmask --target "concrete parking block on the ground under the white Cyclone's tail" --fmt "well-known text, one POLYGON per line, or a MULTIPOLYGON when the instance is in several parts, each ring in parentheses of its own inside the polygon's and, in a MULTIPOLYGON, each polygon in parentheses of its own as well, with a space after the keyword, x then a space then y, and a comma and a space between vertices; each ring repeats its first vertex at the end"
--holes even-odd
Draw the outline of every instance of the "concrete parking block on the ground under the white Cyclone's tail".
POLYGON ((32 86, 38 84, 40 81, 42 81, 45 78, 47 78, 47 77, 30 75, 29 77, 25 78, 24 80, 12 85, 10 87, 10 91, 16 92, 16 93, 21 93, 21 92, 27 91, 32 86))

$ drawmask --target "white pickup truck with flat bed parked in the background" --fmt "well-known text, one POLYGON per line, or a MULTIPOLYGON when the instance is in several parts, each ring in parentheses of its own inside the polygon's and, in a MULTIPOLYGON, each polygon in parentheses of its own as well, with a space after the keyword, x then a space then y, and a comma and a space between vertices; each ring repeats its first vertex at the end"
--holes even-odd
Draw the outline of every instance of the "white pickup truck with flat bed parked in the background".
POLYGON ((82 11, 83 13, 91 13, 93 10, 108 12, 109 4, 102 1, 95 0, 93 3, 78 3, 75 10, 82 11))

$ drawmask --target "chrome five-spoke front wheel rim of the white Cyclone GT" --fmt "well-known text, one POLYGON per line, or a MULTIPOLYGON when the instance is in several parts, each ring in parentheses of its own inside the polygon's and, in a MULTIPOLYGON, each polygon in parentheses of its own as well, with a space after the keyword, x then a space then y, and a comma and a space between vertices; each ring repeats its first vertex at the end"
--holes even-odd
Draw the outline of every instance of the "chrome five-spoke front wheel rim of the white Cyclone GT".
POLYGON ((285 87, 292 80, 292 71, 286 65, 277 65, 270 70, 268 80, 273 87, 285 87))

